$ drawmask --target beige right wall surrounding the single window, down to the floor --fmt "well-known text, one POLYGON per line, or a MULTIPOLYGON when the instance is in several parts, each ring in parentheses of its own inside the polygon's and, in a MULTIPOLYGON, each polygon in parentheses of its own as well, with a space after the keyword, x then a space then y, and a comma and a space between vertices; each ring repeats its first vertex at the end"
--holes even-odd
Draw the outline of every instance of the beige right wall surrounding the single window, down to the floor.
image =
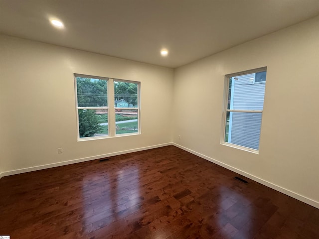
POLYGON ((319 17, 177 68, 173 142, 318 207, 318 29, 319 17), (221 145, 224 75, 264 66, 260 153, 221 145))

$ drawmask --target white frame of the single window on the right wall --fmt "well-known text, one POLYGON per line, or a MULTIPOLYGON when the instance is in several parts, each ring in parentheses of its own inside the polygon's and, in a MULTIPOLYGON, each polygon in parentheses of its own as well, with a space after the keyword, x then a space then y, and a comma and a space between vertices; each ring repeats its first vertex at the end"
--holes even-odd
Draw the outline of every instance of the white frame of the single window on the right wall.
MULTIPOLYGON (((255 83, 256 73, 263 72, 263 71, 267 71, 267 67, 261 67, 261 68, 257 68, 257 69, 252 69, 252 70, 236 72, 236 73, 225 75, 225 78, 224 78, 224 82, 225 82, 225 85, 224 85, 224 107, 223 107, 223 114, 222 114, 222 126, 221 126, 222 133, 221 133, 221 137, 220 137, 220 144, 226 145, 226 146, 229 146, 229 147, 233 147, 233 148, 237 148, 237 149, 241 149, 241 150, 244 150, 244 151, 248 151, 248 152, 259 154, 259 149, 248 148, 248 147, 244 147, 244 146, 237 145, 237 144, 234 144, 234 143, 226 142, 225 141, 225 135, 226 135, 226 120, 227 120, 227 113, 228 112, 260 113, 260 114, 263 114, 262 110, 244 110, 244 109, 241 109, 241 110, 229 110, 228 109, 229 79, 231 77, 235 77, 235 76, 242 76, 242 75, 255 73, 254 74, 253 84, 265 84, 266 81, 256 82, 255 83)), ((234 88, 232 87, 231 88, 231 94, 233 93, 233 90, 234 90, 234 88)), ((230 104, 232 104, 232 103, 230 102, 230 104)), ((263 116, 261 118, 263 118, 263 116)), ((228 131, 231 131, 231 122, 229 122, 229 127, 230 128, 229 128, 228 131)), ((262 127, 262 124, 261 124, 261 127, 262 127)), ((261 130, 260 130, 260 134, 261 134, 261 130)), ((229 136, 229 134, 228 134, 228 136, 229 136)), ((260 145, 259 145, 259 148, 260 148, 260 145)))

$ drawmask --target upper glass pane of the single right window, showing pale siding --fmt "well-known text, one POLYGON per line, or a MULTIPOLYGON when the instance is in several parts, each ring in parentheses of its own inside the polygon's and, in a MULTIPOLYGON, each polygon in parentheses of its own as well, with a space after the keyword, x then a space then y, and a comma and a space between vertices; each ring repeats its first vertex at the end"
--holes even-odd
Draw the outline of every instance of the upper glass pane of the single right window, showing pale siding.
MULTIPOLYGON (((256 73, 258 74, 258 73, 256 73)), ((263 110, 265 81, 254 84, 255 73, 235 76, 229 79, 228 109, 229 110, 263 110)))

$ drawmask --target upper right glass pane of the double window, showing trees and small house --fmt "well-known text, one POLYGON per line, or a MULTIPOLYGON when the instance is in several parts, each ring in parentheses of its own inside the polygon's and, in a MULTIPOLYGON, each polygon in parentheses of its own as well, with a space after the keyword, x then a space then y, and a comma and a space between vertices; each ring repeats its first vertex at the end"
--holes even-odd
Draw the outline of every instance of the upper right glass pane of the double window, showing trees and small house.
POLYGON ((138 84, 114 81, 114 104, 118 108, 138 108, 138 84))

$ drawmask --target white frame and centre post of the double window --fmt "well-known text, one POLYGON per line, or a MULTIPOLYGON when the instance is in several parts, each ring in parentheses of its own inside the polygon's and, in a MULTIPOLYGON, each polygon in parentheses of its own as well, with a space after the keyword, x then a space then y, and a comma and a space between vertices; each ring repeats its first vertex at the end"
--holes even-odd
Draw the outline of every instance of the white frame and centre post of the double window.
POLYGON ((74 87, 75 87, 75 106, 76 106, 76 122, 77 122, 77 141, 87 141, 87 140, 96 140, 96 139, 105 139, 112 137, 123 137, 123 136, 131 136, 141 134, 141 100, 140 100, 140 91, 141 91, 141 82, 138 81, 129 81, 122 79, 114 79, 108 77, 100 77, 100 76, 92 76, 92 75, 84 75, 74 73, 74 87), (77 83, 76 77, 85 77, 85 78, 93 78, 99 80, 107 81, 107 107, 78 107, 78 99, 77 99, 77 83), (134 108, 117 108, 115 107, 115 94, 114 94, 114 81, 121 81, 127 83, 134 83, 138 86, 138 107, 134 108), (80 137, 79 131, 79 110, 107 110, 108 111, 108 135, 103 136, 91 136, 91 137, 80 137), (115 110, 138 110, 138 131, 133 133, 122 133, 116 134, 116 122, 115 122, 115 110))

